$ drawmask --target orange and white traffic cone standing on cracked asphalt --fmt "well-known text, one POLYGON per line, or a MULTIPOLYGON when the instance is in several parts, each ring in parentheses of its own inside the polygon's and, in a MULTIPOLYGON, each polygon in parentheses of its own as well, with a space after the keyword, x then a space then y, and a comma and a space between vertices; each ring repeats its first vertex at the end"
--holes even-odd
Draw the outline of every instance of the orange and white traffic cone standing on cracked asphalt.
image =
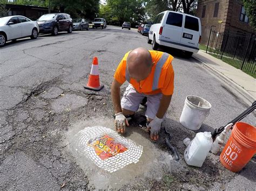
POLYGON ((90 89, 94 91, 99 91, 104 87, 99 83, 99 67, 98 67, 98 58, 94 57, 92 61, 91 73, 85 89, 90 89))

